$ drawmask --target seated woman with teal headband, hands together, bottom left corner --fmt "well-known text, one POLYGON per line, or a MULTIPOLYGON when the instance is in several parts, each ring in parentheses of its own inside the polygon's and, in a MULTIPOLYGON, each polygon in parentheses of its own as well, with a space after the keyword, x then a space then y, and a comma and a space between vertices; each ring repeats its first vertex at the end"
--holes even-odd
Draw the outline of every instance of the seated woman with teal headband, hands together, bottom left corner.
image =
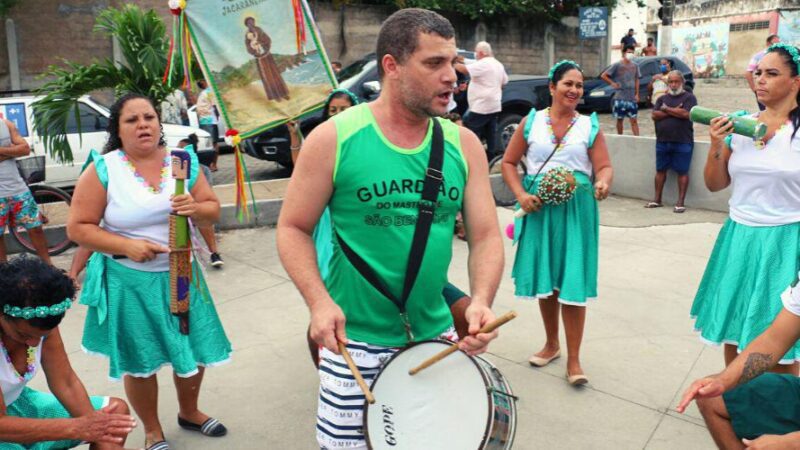
POLYGON ((118 398, 89 397, 64 351, 58 325, 75 288, 39 259, 0 264, 0 448, 121 449, 136 426, 118 398), (52 394, 27 386, 41 371, 52 394))

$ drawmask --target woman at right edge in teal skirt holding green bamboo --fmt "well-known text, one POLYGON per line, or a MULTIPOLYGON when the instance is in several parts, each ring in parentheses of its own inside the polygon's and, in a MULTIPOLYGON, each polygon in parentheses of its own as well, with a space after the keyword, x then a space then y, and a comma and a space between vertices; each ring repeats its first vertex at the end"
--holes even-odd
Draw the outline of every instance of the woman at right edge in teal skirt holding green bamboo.
MULTIPOLYGON (((754 75, 766 105, 757 114, 764 139, 731 134, 725 116, 711 121, 705 167, 712 191, 732 188, 730 216, 719 233, 692 305, 703 341, 725 344, 725 364, 781 310, 781 294, 800 270, 800 52, 775 44, 754 75)), ((800 344, 774 371, 798 374, 800 344)))

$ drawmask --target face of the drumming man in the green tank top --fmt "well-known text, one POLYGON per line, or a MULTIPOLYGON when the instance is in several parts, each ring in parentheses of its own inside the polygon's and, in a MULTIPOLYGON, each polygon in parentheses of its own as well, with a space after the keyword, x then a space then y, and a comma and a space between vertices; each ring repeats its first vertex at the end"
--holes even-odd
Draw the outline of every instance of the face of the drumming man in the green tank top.
POLYGON ((455 38, 420 33, 417 49, 396 69, 387 71, 400 91, 400 101, 413 114, 441 116, 447 113, 456 72, 455 38))

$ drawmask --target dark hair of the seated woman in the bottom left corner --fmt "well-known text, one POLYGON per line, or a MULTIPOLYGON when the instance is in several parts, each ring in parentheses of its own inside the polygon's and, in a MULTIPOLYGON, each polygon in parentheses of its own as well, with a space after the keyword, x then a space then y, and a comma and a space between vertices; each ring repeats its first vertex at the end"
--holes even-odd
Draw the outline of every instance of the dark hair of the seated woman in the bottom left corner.
MULTIPOLYGON (((0 264, 0 312, 5 305, 19 308, 53 306, 75 297, 72 279, 41 259, 22 255, 0 264)), ((5 313, 2 313, 5 314, 5 313)), ((52 330, 61 323, 64 314, 27 319, 30 326, 40 330, 52 330)), ((12 320, 25 320, 16 318, 12 320)))

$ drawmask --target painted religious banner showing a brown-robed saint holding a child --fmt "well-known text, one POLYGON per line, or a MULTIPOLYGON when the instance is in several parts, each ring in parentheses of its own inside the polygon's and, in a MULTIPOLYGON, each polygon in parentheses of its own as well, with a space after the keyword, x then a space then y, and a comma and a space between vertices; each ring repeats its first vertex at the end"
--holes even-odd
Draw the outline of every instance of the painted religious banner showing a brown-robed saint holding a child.
POLYGON ((186 0, 195 57, 241 138, 322 106, 336 78, 305 0, 186 0))

